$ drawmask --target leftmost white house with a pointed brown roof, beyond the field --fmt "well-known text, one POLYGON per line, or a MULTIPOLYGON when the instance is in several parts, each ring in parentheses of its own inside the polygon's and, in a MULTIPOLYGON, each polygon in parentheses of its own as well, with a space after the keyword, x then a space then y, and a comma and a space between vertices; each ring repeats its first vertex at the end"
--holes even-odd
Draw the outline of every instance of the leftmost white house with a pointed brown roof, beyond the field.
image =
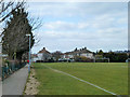
POLYGON ((52 58, 52 54, 43 47, 38 52, 38 60, 48 61, 52 58))

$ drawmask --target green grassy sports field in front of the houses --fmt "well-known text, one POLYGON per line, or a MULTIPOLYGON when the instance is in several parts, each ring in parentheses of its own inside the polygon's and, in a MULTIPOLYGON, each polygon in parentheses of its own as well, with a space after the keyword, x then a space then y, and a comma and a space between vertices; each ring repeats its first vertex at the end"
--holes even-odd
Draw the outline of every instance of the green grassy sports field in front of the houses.
POLYGON ((110 95, 70 75, 117 95, 128 95, 128 64, 125 63, 44 63, 34 67, 40 82, 39 95, 110 95))

